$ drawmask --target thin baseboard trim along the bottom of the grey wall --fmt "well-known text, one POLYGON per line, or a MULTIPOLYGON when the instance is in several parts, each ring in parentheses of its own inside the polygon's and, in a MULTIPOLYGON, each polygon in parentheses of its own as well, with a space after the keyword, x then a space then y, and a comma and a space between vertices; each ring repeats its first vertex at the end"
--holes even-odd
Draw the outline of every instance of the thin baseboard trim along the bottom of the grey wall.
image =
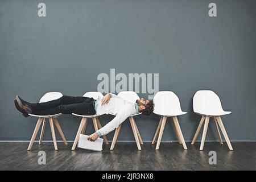
MULTIPOLYGON (((30 142, 30 140, 0 140, 0 142, 30 142)), ((35 142, 39 142, 39 140, 35 140, 35 142)), ((43 140, 43 142, 53 142, 52 140, 43 140)), ((63 143, 62 140, 57 140, 59 143, 63 143)), ((68 140, 68 143, 73 143, 73 140, 68 140)), ((109 142, 112 142, 112 140, 109 140, 109 142)), ((151 143, 152 140, 143 140, 144 143, 151 143)), ((161 141, 161 143, 177 143, 177 140, 167 140, 167 141, 161 141)), ((185 140, 185 142, 192 142, 192 140, 185 140)), ((196 142, 201 142, 201 140, 196 140, 196 142)), ((205 140, 205 142, 219 142, 218 140, 205 140)), ((225 142, 225 140, 223 140, 225 142)), ((256 140, 230 140, 230 142, 256 142, 256 140)), ((135 140, 119 140, 117 143, 135 143, 135 140)))

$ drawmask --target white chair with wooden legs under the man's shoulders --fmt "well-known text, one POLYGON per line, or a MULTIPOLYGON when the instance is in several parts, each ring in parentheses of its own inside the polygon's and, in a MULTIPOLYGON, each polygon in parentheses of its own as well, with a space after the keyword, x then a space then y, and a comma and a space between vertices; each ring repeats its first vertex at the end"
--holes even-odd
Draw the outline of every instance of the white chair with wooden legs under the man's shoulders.
MULTIPOLYGON (((133 92, 133 91, 119 92, 117 96, 123 98, 126 101, 133 102, 133 103, 135 103, 136 100, 139 99, 138 94, 133 92)), ((142 113, 139 113, 139 114, 142 114, 142 113)), ((134 121, 134 116, 139 115, 139 114, 131 115, 129 117, 129 120, 130 120, 130 124, 131 124, 131 129, 133 129, 133 134, 134 134, 135 141, 137 143, 138 150, 141 150, 141 144, 143 144, 143 141, 142 141, 142 138, 141 138, 141 134, 139 134, 138 127, 137 127, 137 125, 134 121)), ((119 125, 117 129, 115 129, 115 134, 114 134, 114 137, 113 137, 113 140, 112 140, 110 150, 114 150, 114 146, 115 146, 115 143, 117 142, 117 138, 118 138, 118 135, 120 133, 121 126, 122 126, 122 124, 119 125)))

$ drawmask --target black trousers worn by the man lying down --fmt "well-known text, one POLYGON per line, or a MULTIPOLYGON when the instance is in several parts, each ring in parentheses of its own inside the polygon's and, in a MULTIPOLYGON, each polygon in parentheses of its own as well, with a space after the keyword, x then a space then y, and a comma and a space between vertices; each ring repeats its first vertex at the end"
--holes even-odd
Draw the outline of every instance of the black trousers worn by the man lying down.
POLYGON ((42 103, 31 103, 32 114, 52 115, 52 114, 81 114, 94 115, 94 99, 89 97, 62 96, 57 100, 42 103))

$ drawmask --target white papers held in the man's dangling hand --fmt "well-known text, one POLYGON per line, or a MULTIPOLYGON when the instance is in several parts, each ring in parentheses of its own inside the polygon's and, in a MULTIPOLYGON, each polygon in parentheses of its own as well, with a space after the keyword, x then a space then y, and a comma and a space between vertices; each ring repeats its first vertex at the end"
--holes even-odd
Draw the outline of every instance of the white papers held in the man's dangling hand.
POLYGON ((93 151, 102 151, 103 139, 99 137, 94 142, 91 142, 90 140, 87 139, 88 137, 88 135, 80 134, 77 147, 93 151))

